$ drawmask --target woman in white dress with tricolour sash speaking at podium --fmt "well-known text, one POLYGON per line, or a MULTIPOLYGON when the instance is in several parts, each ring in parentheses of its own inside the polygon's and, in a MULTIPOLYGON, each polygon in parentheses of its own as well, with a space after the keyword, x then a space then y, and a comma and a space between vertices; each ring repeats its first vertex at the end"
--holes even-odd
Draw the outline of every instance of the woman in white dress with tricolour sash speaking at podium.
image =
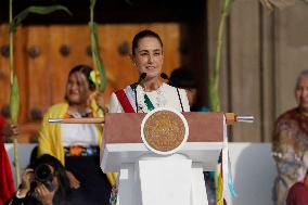
MULTIPOLYGON (((163 41, 152 30, 138 33, 132 40, 131 60, 140 79, 111 95, 110 113, 149 113, 157 107, 189 112, 190 105, 184 89, 162 81, 164 63, 163 41)), ((113 187, 111 204, 116 204, 117 188, 113 187)))

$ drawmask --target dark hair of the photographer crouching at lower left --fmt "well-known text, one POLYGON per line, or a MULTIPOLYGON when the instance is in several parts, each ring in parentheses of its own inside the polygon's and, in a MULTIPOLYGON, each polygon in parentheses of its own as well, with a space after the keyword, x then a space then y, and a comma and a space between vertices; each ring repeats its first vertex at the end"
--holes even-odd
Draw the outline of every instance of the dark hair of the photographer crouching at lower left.
POLYGON ((61 164, 61 162, 50 154, 43 154, 35 162, 33 162, 29 165, 29 168, 33 168, 35 170, 39 165, 42 164, 52 166, 54 168, 54 176, 57 178, 59 189, 55 192, 54 201, 61 201, 62 198, 68 196, 72 189, 69 187, 69 180, 66 176, 65 168, 61 164))

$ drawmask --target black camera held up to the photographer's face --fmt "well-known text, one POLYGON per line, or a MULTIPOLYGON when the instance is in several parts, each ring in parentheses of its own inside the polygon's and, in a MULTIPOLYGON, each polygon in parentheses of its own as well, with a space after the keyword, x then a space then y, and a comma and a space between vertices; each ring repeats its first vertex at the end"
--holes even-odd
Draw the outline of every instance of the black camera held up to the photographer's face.
POLYGON ((35 181, 41 182, 49 191, 53 191, 52 180, 53 174, 48 165, 41 164, 36 167, 35 181))

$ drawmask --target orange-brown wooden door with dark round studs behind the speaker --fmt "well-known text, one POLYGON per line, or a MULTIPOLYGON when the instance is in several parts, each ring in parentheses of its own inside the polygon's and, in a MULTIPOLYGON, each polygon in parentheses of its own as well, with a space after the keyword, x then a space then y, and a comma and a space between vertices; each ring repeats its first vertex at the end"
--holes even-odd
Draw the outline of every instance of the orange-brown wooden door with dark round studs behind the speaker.
MULTIPOLYGON (((180 66, 179 24, 110 24, 99 25, 101 56, 107 72, 105 99, 138 78, 129 53, 131 40, 141 29, 153 29, 164 42, 164 72, 180 66)), ((8 26, 0 31, 7 34, 8 26)), ((2 36, 2 35, 1 35, 2 36)), ((8 42, 8 35, 0 46, 8 42)), ((70 68, 78 64, 92 65, 89 27, 87 25, 33 25, 21 27, 15 35, 15 68, 21 87, 21 142, 36 140, 40 118, 47 108, 64 100, 65 84, 70 68)), ((9 103, 9 59, 0 62, 0 107, 9 103), (3 90, 3 91, 2 91, 3 90)))

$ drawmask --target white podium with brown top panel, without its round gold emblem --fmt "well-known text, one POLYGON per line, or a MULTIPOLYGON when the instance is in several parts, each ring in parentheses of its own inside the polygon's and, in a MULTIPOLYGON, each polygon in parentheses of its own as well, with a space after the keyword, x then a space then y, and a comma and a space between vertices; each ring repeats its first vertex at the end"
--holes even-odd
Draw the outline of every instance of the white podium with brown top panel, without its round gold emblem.
POLYGON ((215 170, 223 146, 223 113, 183 113, 187 142, 174 154, 151 152, 141 139, 145 114, 105 115, 101 168, 119 172, 118 205, 204 205, 203 171, 215 170))

